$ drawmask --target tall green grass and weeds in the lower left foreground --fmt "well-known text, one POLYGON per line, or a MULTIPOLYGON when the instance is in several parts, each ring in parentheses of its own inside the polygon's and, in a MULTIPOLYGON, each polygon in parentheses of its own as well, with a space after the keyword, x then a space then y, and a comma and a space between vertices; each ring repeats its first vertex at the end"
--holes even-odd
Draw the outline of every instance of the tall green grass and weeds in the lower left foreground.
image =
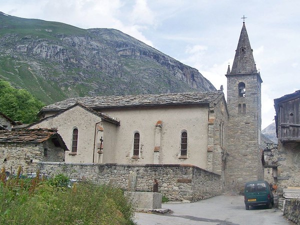
POLYGON ((134 224, 119 188, 86 181, 69 188, 38 176, 6 181, 2 172, 0 178, 0 224, 134 224))

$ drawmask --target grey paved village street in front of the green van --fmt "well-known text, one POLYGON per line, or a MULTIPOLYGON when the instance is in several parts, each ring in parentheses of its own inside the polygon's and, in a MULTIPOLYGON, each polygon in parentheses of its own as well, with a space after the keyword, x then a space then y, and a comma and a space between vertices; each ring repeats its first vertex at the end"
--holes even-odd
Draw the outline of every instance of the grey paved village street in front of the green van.
POLYGON ((245 210, 243 196, 220 195, 193 203, 164 203, 162 208, 169 208, 170 213, 135 213, 138 225, 158 224, 208 224, 208 225, 267 225, 294 224, 282 215, 275 205, 250 207, 245 210))

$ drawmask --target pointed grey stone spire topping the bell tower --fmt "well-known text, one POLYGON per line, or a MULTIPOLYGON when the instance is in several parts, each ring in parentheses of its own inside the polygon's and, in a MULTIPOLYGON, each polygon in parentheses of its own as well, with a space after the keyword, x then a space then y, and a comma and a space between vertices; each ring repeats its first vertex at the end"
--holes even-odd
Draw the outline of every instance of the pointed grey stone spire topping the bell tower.
POLYGON ((245 22, 243 22, 230 74, 257 72, 252 51, 245 22))

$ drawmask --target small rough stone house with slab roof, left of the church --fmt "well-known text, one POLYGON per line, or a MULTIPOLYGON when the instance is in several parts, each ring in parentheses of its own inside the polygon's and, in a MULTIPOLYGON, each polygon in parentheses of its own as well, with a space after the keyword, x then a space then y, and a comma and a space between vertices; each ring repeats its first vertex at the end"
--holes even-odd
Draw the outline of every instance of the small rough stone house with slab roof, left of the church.
POLYGON ((56 130, 14 129, 0 130, 0 168, 15 173, 35 171, 39 161, 64 161, 68 150, 56 130))

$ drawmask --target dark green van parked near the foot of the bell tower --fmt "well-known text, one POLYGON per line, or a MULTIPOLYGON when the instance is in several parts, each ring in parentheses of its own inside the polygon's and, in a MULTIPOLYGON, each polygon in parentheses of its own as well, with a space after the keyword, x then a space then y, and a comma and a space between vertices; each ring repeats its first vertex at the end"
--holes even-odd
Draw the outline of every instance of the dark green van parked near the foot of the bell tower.
POLYGON ((274 204, 274 196, 267 181, 256 180, 245 183, 244 202, 246 210, 249 206, 265 204, 271 208, 274 204))

